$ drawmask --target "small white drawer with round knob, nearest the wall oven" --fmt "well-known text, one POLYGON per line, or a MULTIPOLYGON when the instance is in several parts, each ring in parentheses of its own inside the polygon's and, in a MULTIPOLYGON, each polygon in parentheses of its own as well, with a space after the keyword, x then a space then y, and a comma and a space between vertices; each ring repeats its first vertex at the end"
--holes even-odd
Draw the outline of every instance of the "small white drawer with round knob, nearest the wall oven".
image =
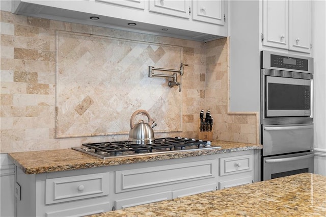
POLYGON ((220 158, 220 176, 251 171, 253 157, 251 154, 220 158))

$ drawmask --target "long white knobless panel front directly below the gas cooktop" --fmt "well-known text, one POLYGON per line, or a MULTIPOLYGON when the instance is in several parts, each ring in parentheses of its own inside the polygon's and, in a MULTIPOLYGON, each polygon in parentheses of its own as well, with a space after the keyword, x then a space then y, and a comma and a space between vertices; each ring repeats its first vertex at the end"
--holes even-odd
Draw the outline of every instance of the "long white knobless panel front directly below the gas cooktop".
POLYGON ((214 178, 217 168, 217 161, 213 159, 117 171, 116 193, 214 178))

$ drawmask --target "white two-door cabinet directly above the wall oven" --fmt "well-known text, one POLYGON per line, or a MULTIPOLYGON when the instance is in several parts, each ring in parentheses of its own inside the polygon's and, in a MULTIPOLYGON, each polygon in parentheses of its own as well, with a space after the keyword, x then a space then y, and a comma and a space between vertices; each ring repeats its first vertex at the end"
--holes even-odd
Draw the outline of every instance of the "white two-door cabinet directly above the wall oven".
POLYGON ((312 1, 262 1, 263 46, 311 52, 312 1))

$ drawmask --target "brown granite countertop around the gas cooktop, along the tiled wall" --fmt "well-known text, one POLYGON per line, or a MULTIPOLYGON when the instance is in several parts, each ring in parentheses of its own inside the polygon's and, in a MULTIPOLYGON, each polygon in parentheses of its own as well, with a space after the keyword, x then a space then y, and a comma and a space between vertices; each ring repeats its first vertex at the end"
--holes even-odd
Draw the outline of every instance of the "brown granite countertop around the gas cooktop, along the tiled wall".
POLYGON ((85 168, 105 167, 114 165, 133 164, 135 162, 146 162, 155 160, 175 159, 183 157, 203 156, 218 153, 228 153, 235 151, 246 151, 261 149, 262 145, 235 143, 227 141, 211 142, 212 149, 202 149, 196 151, 182 151, 174 153, 161 153, 150 155, 137 155, 129 157, 116 157, 101 159, 80 151, 72 149, 57 149, 47 151, 26 151, 8 153, 9 158, 25 174, 38 174, 46 172, 58 172, 85 168), (222 148, 218 148, 218 147, 222 148))

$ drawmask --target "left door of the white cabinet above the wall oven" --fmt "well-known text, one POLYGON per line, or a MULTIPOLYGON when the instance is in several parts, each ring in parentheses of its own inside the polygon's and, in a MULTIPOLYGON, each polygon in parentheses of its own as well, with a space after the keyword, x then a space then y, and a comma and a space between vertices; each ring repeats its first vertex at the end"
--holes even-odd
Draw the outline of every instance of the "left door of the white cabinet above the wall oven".
POLYGON ((288 49, 288 0, 264 0, 263 45, 288 49))

